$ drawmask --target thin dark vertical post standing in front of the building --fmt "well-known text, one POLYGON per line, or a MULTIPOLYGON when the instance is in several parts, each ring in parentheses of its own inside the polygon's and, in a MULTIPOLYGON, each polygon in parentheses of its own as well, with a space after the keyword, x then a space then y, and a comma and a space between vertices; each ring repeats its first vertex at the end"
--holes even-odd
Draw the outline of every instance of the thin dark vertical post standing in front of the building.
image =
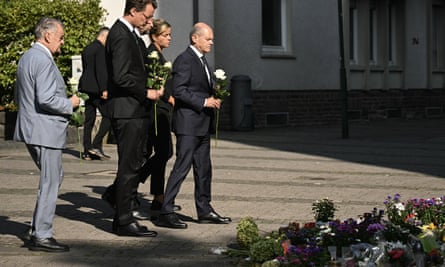
POLYGON ((348 85, 346 79, 345 67, 345 47, 343 36, 343 0, 338 0, 338 33, 340 41, 340 94, 341 94, 341 121, 342 121, 342 138, 349 138, 349 122, 348 122, 348 85))

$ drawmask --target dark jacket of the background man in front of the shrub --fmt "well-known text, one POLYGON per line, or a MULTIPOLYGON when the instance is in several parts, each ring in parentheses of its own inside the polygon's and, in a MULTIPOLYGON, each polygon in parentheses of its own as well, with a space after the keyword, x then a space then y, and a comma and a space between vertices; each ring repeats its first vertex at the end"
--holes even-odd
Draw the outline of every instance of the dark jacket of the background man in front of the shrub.
POLYGON ((79 91, 101 95, 103 91, 107 90, 107 79, 105 47, 96 39, 82 52, 82 76, 79 80, 79 91))

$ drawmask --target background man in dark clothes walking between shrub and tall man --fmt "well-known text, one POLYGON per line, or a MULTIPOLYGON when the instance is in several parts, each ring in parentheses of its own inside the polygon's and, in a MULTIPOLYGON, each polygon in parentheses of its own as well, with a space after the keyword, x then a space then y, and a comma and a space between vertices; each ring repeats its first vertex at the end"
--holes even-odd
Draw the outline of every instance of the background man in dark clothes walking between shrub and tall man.
POLYGON ((103 27, 99 30, 96 40, 89 44, 82 52, 82 76, 79 80, 79 91, 88 94, 85 101, 85 122, 83 127, 82 158, 91 160, 94 158, 109 158, 102 150, 104 136, 110 130, 111 121, 103 116, 102 104, 107 99, 107 68, 105 62, 105 43, 110 29, 103 27), (91 143, 91 132, 96 120, 96 112, 99 109, 102 120, 99 130, 91 143))

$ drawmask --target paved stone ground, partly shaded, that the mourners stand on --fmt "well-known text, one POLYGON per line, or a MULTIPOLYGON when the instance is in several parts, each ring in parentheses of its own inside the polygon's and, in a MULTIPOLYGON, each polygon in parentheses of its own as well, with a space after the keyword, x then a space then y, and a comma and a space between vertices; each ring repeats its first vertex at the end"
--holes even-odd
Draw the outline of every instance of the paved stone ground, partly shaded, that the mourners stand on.
MULTIPOLYGON (((35 204, 38 171, 23 144, 0 141, 0 266, 236 266, 212 253, 235 242, 236 225, 253 217, 263 231, 313 219, 311 204, 324 197, 338 218, 383 208, 388 195, 433 197, 445 188, 445 120, 387 120, 340 127, 256 129, 220 132, 212 140, 213 206, 229 225, 197 224, 193 178, 177 199, 189 228, 158 231, 156 238, 111 233, 113 212, 100 196, 115 176, 115 145, 107 161, 80 161, 78 145, 64 153, 65 180, 55 219, 55 237, 69 253, 31 252, 22 247, 35 204)), ((174 158, 169 161, 169 173, 174 158)), ((148 211, 149 182, 141 185, 148 211)))

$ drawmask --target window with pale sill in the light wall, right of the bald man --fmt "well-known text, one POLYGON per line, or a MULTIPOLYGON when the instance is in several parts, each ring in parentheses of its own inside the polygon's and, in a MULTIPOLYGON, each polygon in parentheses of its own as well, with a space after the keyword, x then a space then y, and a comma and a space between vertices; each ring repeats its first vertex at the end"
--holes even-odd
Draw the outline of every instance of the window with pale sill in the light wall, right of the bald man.
POLYGON ((292 0, 262 0, 262 56, 294 57, 292 51, 292 0))

